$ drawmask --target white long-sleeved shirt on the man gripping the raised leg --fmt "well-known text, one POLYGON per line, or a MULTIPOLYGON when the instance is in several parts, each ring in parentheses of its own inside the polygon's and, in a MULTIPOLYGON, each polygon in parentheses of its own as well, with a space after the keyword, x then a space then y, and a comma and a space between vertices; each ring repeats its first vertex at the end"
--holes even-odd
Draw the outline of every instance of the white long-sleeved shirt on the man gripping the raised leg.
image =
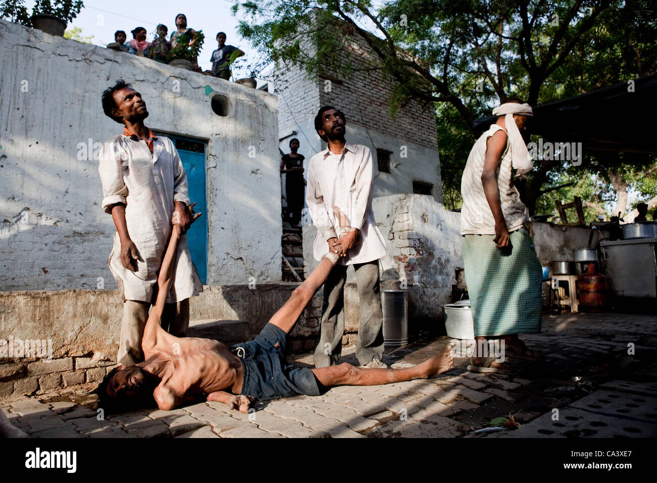
POLYGON ((372 211, 373 185, 374 165, 367 146, 347 144, 342 154, 326 149, 310 158, 306 203, 317 225, 313 246, 315 260, 327 254, 328 239, 337 237, 340 225, 333 214, 334 206, 346 214, 351 227, 360 230, 340 264, 364 264, 386 254, 386 242, 376 227, 372 211))

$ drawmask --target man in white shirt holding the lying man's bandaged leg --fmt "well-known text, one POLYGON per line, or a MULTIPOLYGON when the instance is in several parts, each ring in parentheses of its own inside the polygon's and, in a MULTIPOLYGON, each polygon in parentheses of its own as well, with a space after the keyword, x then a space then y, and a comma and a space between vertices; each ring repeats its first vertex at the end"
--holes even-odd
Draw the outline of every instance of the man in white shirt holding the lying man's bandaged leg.
MULTIPOLYGON (((372 211, 374 166, 366 146, 347 144, 342 112, 325 106, 315 118, 315 129, 328 148, 315 154, 308 168, 306 202, 317 237, 315 260, 321 260, 333 244, 344 241, 348 248, 324 283, 320 334, 315 347, 315 367, 337 364, 344 333, 344 283, 347 267, 353 265, 358 285, 361 318, 356 357, 364 367, 383 368, 383 316, 378 283, 378 259, 386 244, 376 227, 372 211), (340 230, 339 216, 346 216, 350 230, 340 230)), ((342 223, 344 225, 344 223, 342 223)))

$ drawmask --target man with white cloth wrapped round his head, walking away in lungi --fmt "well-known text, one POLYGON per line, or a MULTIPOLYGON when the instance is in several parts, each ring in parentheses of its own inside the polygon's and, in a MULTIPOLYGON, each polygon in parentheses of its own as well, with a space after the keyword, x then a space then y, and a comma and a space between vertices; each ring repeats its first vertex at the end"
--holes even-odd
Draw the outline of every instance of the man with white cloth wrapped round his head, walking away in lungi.
POLYGON ((476 339, 468 370, 513 373, 509 363, 487 357, 486 341, 500 340, 503 354, 541 357, 518 338, 541 330, 541 264, 511 171, 521 177, 533 168, 520 134, 533 112, 509 98, 493 115, 497 122, 474 143, 461 178, 463 262, 476 339))

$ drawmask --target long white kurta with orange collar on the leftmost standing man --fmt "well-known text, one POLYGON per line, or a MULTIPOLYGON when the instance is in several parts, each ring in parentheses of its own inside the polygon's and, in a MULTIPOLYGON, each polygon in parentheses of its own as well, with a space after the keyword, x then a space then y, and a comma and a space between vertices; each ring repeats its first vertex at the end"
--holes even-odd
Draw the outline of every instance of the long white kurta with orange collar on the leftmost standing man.
MULTIPOLYGON (((111 213, 112 205, 125 204, 127 232, 139 250, 137 271, 121 264, 121 242, 114 233, 110 271, 125 300, 151 302, 171 236, 171 215, 175 202, 189 204, 187 174, 177 150, 168 137, 153 141, 153 152, 146 141, 118 135, 104 143, 99 153, 102 181, 102 209, 111 213)), ((183 235, 178 244, 173 283, 167 303, 179 302, 202 291, 183 235)))

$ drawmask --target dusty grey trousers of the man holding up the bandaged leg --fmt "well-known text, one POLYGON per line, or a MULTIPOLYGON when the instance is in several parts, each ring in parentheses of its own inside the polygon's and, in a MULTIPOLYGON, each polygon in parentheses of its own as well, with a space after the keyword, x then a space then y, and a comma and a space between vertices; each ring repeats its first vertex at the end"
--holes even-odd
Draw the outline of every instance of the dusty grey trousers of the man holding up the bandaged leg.
MULTIPOLYGON (((356 358, 365 365, 383 358, 383 314, 378 285, 378 260, 353 264, 358 285, 361 318, 356 339, 356 358)), ((324 283, 324 303, 315 367, 335 365, 342 353, 344 334, 344 283, 347 265, 336 265, 324 283)))

